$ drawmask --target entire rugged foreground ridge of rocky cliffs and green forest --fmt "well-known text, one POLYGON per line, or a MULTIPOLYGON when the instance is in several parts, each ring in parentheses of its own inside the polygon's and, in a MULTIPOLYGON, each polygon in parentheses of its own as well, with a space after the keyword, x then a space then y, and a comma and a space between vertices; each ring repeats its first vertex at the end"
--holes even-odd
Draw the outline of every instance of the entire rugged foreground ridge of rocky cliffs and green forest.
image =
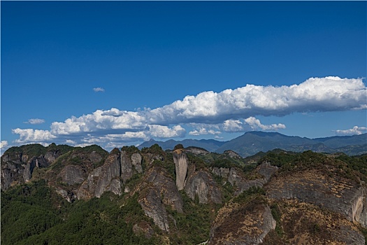
POLYGON ((365 244, 366 174, 366 155, 13 147, 1 242, 365 244))

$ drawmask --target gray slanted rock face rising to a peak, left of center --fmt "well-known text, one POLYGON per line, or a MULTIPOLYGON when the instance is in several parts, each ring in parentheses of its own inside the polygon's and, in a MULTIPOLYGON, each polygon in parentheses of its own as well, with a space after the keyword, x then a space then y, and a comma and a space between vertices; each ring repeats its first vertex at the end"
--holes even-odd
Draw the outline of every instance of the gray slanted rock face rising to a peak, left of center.
POLYGON ((105 163, 97 167, 89 174, 87 180, 82 183, 78 190, 78 199, 89 199, 92 197, 101 197, 108 190, 115 191, 117 195, 121 194, 121 184, 118 178, 121 173, 120 151, 115 148, 111 151, 105 163), (114 180, 116 179, 116 180, 114 180), (113 181, 114 180, 114 181, 113 181), (112 186, 110 186, 112 183, 112 186))

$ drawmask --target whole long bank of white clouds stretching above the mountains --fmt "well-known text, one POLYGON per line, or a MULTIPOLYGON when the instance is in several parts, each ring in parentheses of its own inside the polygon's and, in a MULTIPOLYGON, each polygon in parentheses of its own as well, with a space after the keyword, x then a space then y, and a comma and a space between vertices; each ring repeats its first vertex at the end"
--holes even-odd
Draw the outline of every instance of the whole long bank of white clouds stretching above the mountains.
MULTIPOLYGON (((103 90, 101 87, 94 90, 99 89, 103 90)), ((299 85, 246 85, 235 90, 201 92, 157 109, 97 110, 54 122, 50 130, 17 128, 13 133, 19 134, 16 140, 19 144, 62 141, 113 146, 152 137, 185 137, 185 127, 192 128, 189 135, 213 134, 217 138, 222 132, 282 130, 286 125, 263 125, 256 116, 359 109, 367 109, 367 90, 362 78, 329 76, 309 78, 299 85)))

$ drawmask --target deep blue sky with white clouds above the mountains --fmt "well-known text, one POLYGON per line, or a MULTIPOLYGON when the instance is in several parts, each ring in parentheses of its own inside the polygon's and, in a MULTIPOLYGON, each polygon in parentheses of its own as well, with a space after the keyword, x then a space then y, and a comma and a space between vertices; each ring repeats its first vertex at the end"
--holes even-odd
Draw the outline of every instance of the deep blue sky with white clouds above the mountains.
POLYGON ((1 150, 367 127, 366 1, 1 1, 1 150))

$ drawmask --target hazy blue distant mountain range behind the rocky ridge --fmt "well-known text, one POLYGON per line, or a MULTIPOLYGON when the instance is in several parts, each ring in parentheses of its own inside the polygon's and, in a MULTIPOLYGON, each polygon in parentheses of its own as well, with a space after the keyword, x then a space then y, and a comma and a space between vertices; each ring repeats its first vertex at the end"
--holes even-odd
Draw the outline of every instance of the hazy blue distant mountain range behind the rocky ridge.
POLYGON ((177 144, 182 144, 184 147, 196 146, 215 153, 232 150, 244 158, 260 151, 266 152, 275 148, 294 152, 310 150, 319 153, 343 152, 347 155, 361 155, 367 153, 367 134, 308 139, 306 137, 291 137, 277 132, 253 131, 246 132, 242 136, 230 141, 217 141, 214 139, 154 141, 151 139, 150 141, 145 141, 138 148, 150 147, 154 144, 158 144, 164 150, 173 149, 177 144))

